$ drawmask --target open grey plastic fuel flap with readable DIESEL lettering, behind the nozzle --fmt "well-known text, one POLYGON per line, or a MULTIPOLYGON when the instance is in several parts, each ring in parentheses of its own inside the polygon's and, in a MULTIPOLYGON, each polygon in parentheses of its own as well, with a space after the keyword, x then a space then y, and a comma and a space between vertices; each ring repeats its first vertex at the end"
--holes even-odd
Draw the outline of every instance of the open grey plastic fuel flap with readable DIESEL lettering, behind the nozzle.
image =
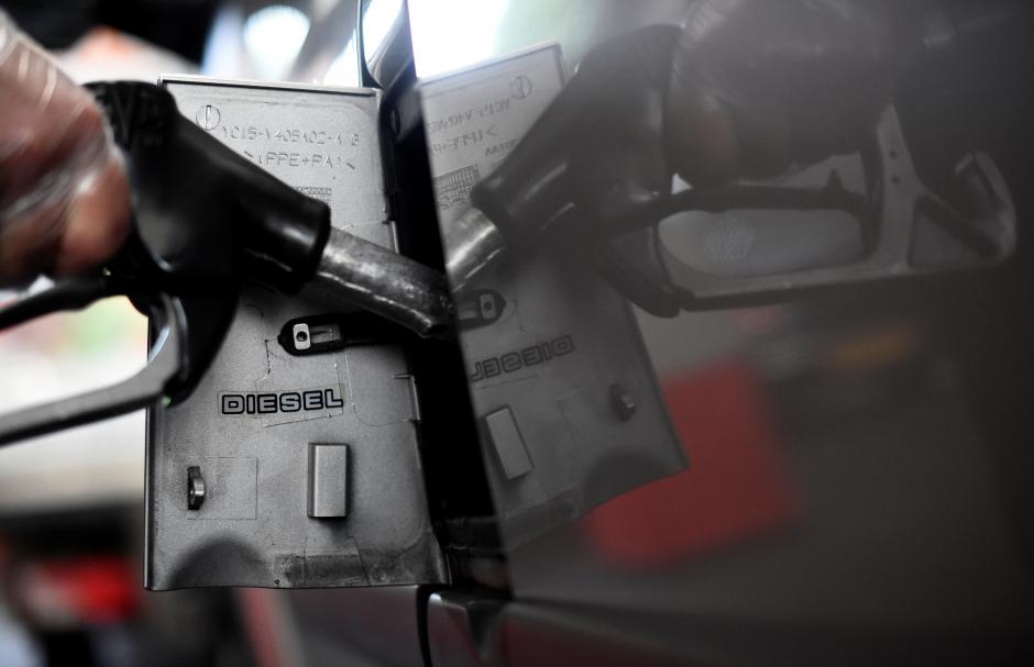
MULTIPOLYGON (((336 227, 393 247, 375 91, 164 84, 187 118, 327 201, 336 227)), ((428 516, 417 397, 403 351, 369 345, 298 357, 276 340, 289 320, 331 309, 345 310, 311 294, 246 289, 190 399, 150 413, 147 588, 447 580, 428 516), (333 501, 346 502, 346 516, 309 515, 311 443, 348 444, 346 497, 333 501), (207 482, 197 511, 186 509, 190 466, 207 482)), ((333 462, 327 471, 342 465, 333 462)), ((321 488, 331 479, 321 467, 317 477, 321 488)), ((317 513, 322 498, 315 498, 317 513)))

